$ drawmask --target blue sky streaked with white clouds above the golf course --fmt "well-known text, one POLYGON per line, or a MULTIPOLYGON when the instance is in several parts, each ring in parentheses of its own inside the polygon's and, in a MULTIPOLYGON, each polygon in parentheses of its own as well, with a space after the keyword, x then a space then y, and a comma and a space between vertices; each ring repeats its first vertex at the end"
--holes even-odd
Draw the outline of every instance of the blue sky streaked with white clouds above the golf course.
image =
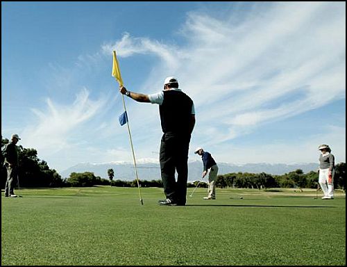
MULTIPOLYGON (((133 162, 112 77, 194 101, 189 161, 346 162, 345 2, 1 1, 1 135, 62 171, 133 162)), ((158 104, 125 98, 137 163, 159 157, 158 104)))

